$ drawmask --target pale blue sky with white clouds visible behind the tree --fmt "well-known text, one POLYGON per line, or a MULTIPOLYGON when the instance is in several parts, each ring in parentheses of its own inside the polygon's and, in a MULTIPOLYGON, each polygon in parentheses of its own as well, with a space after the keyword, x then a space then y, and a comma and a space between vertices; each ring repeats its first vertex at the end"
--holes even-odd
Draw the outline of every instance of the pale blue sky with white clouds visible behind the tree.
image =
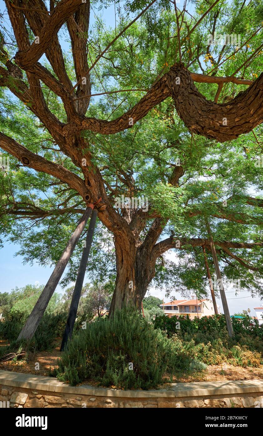
MULTIPOLYGON (((181 1, 177 2, 178 7, 180 7, 181 1)), ((0 0, 0 11, 3 12, 5 10, 5 5, 3 0, 0 0)), ((105 24, 111 27, 115 26, 115 16, 114 16, 114 6, 109 7, 107 10, 102 11, 98 14, 103 17, 105 24)), ((94 16, 91 12, 91 20, 90 23, 94 22, 94 16)), ((60 41, 62 48, 64 50, 68 50, 68 45, 64 41, 60 41)), ((38 266, 37 262, 34 262, 33 266, 29 264, 23 265, 23 258, 21 256, 16 256, 15 253, 19 250, 19 244, 10 244, 6 242, 4 244, 3 249, 0 249, 0 292, 10 292, 16 286, 22 287, 27 284, 41 283, 45 285, 47 280, 50 277, 51 272, 53 271, 53 267, 42 267, 38 266)), ((169 253, 169 257, 172 259, 174 253, 169 253)), ((88 277, 86 276, 86 281, 88 281, 88 277)), ((57 291, 62 292, 60 286, 57 286, 57 291)), ((150 294, 158 296, 160 298, 164 298, 165 301, 165 292, 156 290, 154 288, 150 288, 150 294)), ((248 292, 241 292, 238 296, 235 296, 235 293, 232 289, 226 290, 226 297, 229 303, 230 314, 234 312, 241 311, 243 309, 247 309, 248 307, 251 309, 251 314, 256 315, 253 310, 254 307, 262 306, 260 299, 253 298, 249 295, 248 292)), ((180 298, 179 294, 176 294, 176 298, 180 298)), ((217 300, 222 310, 222 302, 220 299, 217 300)))

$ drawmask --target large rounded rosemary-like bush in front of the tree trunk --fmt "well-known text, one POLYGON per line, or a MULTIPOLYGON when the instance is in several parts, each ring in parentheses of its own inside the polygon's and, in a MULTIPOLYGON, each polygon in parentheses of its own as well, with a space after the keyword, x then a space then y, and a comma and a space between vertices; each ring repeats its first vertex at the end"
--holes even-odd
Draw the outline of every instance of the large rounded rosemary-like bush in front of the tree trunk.
POLYGON ((171 376, 189 364, 166 334, 137 311, 125 309, 75 334, 52 375, 71 385, 92 380, 103 386, 150 389, 163 382, 164 374, 171 376))

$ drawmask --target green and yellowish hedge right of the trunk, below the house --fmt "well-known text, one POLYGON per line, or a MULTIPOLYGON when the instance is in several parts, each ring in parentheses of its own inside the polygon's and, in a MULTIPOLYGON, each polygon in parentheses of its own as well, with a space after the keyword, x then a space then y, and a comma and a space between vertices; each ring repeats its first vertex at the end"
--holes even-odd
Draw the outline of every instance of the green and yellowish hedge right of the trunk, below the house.
POLYGON ((259 367, 263 364, 263 328, 257 320, 232 318, 234 337, 226 330, 223 315, 186 318, 156 317, 154 327, 165 330, 179 353, 207 365, 227 362, 235 366, 259 367), (178 322, 180 324, 178 324, 178 322), (180 328, 178 328, 180 327, 180 328))

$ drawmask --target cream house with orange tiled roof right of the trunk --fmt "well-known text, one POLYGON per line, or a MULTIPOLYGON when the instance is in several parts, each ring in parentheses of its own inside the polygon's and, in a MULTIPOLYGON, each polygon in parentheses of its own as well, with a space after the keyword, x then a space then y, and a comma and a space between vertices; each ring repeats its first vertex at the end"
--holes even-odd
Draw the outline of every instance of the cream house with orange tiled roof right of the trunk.
MULTIPOLYGON (((212 300, 174 300, 160 304, 163 313, 171 318, 174 315, 188 315, 191 319, 195 317, 209 317, 215 314, 212 300)), ((220 313, 220 306, 217 306, 220 313)))

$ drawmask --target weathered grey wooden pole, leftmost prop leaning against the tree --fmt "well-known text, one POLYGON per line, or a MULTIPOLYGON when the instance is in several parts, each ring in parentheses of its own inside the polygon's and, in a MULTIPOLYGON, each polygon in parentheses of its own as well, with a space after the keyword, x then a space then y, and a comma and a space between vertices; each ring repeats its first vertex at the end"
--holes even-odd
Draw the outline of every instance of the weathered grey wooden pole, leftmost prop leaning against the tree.
POLYGON ((47 305, 50 301, 50 298, 52 297, 57 287, 57 284, 60 281, 64 269, 67 266, 67 263, 70 259, 70 256, 73 253, 73 250, 77 245, 78 240, 80 239, 80 235, 83 232, 85 225, 87 224, 91 212, 92 212, 92 208, 88 207, 84 212, 83 216, 80 218, 77 228, 73 232, 67 244, 67 247, 63 251, 60 260, 57 262, 57 265, 55 266, 55 269, 52 272, 50 279, 48 280, 39 299, 37 300, 35 307, 33 308, 32 312, 27 318, 26 324, 20 331, 20 335, 17 338, 18 341, 20 339, 31 339, 35 331, 37 330, 38 324, 40 323, 40 320, 43 317, 45 310, 47 309, 47 305))

